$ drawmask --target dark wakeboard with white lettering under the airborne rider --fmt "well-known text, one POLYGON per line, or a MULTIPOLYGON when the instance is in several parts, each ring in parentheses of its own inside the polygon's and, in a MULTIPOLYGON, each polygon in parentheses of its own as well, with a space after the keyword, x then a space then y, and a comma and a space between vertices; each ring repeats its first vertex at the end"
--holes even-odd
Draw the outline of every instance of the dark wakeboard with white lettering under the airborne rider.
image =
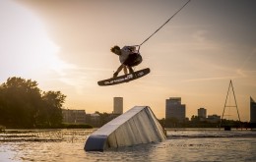
POLYGON ((119 76, 116 78, 111 78, 111 79, 107 79, 107 80, 103 80, 103 81, 97 81, 97 84, 99 86, 106 86, 106 85, 114 85, 114 84, 123 83, 123 82, 129 82, 129 81, 133 81, 133 80, 142 78, 142 77, 148 75, 150 72, 151 72, 150 68, 146 68, 146 69, 136 71, 131 74, 119 76))

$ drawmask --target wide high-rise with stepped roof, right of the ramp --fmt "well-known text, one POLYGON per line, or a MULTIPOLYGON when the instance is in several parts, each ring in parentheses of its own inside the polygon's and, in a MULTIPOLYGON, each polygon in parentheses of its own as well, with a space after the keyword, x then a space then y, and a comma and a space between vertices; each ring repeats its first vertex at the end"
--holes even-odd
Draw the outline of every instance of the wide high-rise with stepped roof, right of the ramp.
POLYGON ((175 118, 184 121, 186 118, 186 105, 181 104, 181 97, 166 99, 165 119, 175 118))

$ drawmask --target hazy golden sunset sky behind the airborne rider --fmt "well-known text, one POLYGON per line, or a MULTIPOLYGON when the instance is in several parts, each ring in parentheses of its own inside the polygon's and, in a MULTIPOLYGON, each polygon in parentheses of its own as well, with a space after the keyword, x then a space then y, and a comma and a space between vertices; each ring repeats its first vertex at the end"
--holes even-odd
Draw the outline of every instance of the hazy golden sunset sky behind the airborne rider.
POLYGON ((250 96, 256 99, 255 0, 191 0, 142 45, 136 70, 150 68, 148 76, 97 85, 120 65, 112 46, 142 43, 186 2, 1 0, 0 83, 32 79, 67 95, 66 108, 87 113, 111 113, 120 96, 124 111, 147 105, 161 119, 169 97, 181 97, 188 118, 200 107, 222 115, 232 80, 240 118, 249 121, 250 96))

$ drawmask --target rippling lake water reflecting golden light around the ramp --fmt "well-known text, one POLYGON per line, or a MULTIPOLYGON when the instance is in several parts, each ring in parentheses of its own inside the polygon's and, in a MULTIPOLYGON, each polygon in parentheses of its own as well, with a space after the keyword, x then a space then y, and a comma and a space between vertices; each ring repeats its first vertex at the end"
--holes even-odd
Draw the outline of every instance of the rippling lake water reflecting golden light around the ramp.
POLYGON ((86 152, 95 130, 12 130, 0 134, 0 161, 256 161, 256 132, 166 130, 163 142, 86 152))

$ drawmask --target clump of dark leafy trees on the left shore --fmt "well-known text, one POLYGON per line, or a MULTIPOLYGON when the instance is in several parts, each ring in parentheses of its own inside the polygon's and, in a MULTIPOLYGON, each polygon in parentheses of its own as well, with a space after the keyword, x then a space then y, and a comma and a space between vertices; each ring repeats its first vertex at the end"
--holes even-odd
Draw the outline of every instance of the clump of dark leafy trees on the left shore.
POLYGON ((42 91, 38 83, 9 78, 0 85, 0 125, 6 128, 58 128, 66 96, 60 91, 42 91))

